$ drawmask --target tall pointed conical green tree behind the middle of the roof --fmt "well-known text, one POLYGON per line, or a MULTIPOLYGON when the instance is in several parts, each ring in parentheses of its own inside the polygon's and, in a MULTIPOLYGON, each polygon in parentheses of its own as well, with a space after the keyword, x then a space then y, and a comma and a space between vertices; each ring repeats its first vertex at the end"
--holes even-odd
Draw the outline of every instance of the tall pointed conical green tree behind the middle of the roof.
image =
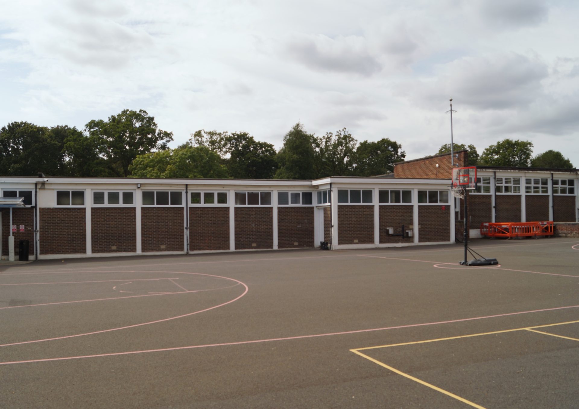
POLYGON ((315 179, 313 134, 307 133, 299 122, 284 136, 284 145, 277 153, 279 166, 276 179, 315 179))

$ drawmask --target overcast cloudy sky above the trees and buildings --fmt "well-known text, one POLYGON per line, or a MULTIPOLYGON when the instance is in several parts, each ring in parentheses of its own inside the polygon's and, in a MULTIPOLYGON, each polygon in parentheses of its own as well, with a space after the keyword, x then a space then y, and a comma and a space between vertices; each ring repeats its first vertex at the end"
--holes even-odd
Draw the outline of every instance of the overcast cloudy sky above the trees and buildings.
POLYGON ((510 137, 579 166, 579 2, 0 0, 0 125, 145 109, 281 146, 301 122, 406 158, 510 137))

